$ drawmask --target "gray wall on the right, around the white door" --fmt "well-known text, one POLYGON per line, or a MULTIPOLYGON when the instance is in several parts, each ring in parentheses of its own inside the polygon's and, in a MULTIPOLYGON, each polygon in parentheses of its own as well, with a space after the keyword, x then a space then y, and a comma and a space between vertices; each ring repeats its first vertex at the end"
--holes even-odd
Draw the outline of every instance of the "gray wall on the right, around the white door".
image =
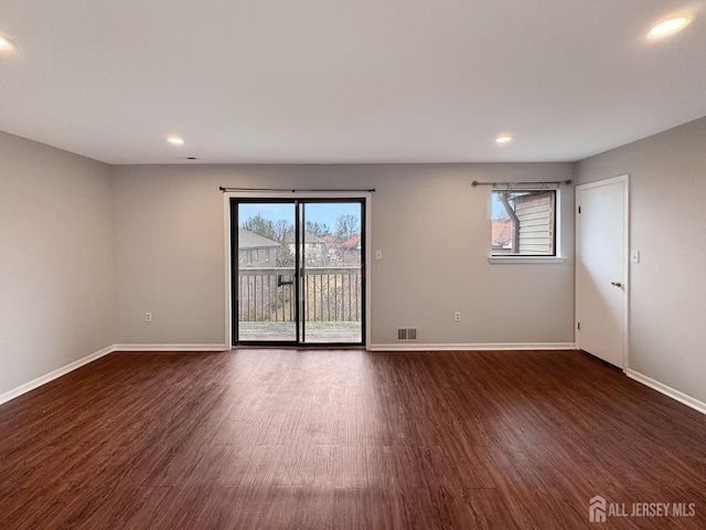
POLYGON ((579 183, 630 173, 629 368, 706 401, 706 118, 577 166, 579 183))

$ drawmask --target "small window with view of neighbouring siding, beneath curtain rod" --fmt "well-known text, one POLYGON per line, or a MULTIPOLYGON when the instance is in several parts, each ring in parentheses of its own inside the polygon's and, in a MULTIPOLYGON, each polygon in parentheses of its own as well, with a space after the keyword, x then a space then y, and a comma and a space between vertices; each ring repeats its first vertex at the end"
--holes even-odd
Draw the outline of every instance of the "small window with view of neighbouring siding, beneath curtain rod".
POLYGON ((556 256, 556 190, 493 191, 492 256, 556 256))

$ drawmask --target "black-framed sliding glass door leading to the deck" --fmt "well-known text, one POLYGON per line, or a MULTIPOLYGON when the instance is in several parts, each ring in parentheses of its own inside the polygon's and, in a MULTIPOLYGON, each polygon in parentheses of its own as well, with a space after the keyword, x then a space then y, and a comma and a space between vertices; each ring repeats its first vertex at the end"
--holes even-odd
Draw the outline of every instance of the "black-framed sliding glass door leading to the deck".
POLYGON ((233 199, 231 215, 234 343, 364 342, 363 200, 233 199))

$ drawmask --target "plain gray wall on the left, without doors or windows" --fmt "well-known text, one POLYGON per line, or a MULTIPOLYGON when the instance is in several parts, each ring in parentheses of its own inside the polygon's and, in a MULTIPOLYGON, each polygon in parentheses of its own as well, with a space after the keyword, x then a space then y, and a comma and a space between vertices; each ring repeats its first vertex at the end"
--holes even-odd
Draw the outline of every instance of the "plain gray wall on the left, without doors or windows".
POLYGON ((0 132, 0 394, 114 342, 109 167, 0 132))

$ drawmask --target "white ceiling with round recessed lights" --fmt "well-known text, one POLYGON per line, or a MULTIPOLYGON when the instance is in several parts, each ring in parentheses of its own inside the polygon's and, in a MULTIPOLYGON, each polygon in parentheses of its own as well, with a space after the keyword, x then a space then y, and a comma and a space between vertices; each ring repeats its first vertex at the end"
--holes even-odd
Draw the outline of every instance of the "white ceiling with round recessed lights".
POLYGON ((574 161, 706 116, 705 3, 3 0, 0 130, 109 163, 574 161))

